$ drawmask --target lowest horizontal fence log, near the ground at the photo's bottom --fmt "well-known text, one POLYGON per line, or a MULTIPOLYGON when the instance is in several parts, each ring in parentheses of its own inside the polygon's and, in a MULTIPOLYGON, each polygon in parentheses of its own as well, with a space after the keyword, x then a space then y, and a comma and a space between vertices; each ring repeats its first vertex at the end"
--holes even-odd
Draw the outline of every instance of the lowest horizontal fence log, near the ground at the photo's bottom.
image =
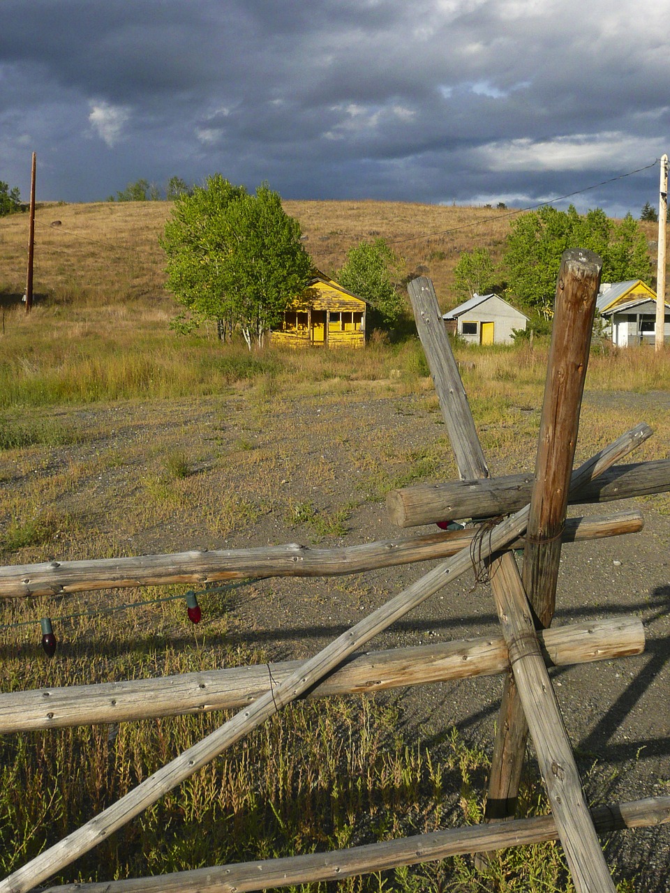
MULTIPOLYGON (((599 834, 624 828, 649 828, 670 822, 670 797, 648 797, 590 810, 599 834)), ((551 815, 515 819, 496 825, 473 825, 385 840, 330 853, 290 855, 230 865, 213 865, 190 872, 160 874, 155 878, 104 880, 63 884, 43 893, 246 893, 288 885, 342 880, 357 874, 382 872, 400 865, 416 865, 490 849, 523 847, 557 839, 551 815)))

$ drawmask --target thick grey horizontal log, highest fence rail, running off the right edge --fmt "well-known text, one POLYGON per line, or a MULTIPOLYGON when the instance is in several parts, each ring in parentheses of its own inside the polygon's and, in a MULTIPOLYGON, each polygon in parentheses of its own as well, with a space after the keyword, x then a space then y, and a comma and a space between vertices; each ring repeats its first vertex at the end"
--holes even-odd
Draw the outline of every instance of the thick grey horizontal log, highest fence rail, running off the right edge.
MULTIPOLYGON (((392 490, 386 505, 398 527, 417 527, 463 518, 496 518, 517 512, 531 498, 532 474, 509 474, 486 480, 453 480, 392 490)), ((670 490, 670 459, 616 465, 590 481, 572 505, 632 499, 670 490)))

